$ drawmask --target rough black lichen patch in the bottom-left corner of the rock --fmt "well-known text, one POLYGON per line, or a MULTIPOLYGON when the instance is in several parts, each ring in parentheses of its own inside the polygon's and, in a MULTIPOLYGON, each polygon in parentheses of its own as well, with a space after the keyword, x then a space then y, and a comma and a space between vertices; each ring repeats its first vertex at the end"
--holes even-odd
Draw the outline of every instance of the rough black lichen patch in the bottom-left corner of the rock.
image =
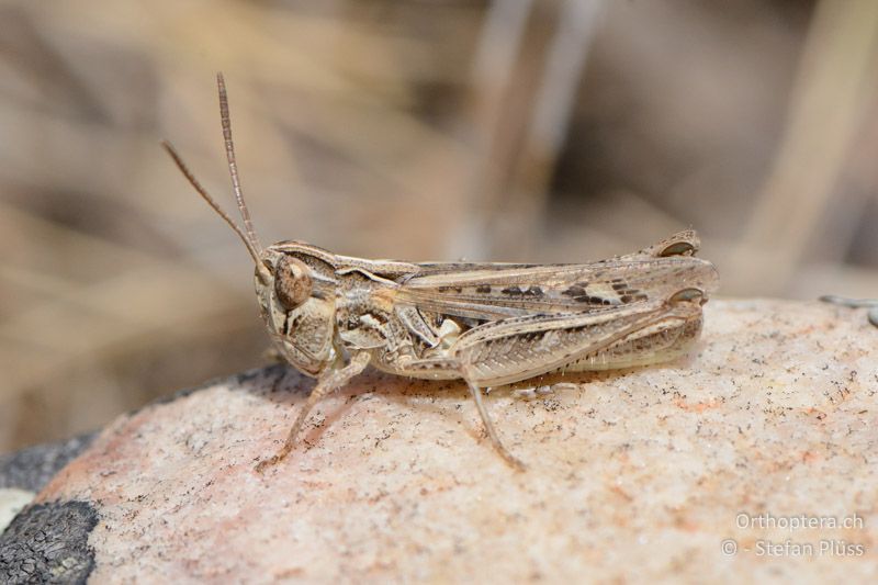
POLYGON ((0 583, 86 583, 94 569, 88 540, 97 524, 86 502, 25 508, 0 535, 0 583))

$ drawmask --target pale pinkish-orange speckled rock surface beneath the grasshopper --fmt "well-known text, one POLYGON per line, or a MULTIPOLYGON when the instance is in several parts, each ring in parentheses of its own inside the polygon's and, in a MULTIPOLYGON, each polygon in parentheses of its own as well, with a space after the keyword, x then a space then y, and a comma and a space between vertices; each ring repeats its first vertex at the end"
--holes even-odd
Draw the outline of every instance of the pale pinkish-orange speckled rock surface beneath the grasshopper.
POLYGON ((120 418, 37 500, 93 506, 100 583, 875 582, 878 328, 819 303, 705 308, 688 359, 492 392, 524 473, 461 384, 371 372, 260 476, 313 384, 271 392, 270 368, 120 418))

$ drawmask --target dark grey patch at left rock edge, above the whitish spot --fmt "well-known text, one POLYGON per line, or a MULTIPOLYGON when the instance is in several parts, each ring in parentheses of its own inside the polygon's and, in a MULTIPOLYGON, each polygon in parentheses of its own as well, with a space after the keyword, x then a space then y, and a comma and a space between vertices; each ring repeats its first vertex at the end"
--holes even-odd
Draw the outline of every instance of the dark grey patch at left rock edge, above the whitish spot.
POLYGON ((89 432, 0 455, 0 487, 40 492, 63 466, 85 451, 95 436, 97 432, 89 432))

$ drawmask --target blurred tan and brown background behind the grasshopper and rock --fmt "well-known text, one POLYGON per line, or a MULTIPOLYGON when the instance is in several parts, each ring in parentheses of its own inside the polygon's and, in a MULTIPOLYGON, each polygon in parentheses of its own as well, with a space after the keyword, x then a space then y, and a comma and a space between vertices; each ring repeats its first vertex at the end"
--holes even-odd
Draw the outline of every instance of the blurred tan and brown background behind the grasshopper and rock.
POLYGON ((263 363, 217 70, 263 244, 878 296, 873 0, 4 0, 0 452, 263 363))

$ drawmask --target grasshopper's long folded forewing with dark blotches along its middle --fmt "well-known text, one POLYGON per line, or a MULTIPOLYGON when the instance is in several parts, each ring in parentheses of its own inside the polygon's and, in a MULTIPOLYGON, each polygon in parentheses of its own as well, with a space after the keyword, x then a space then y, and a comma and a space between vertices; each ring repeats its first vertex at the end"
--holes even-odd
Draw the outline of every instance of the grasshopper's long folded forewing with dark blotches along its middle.
POLYGON ((713 265, 691 257, 418 267, 399 282, 396 303, 479 319, 581 313, 664 300, 687 288, 710 294, 718 285, 713 265))

